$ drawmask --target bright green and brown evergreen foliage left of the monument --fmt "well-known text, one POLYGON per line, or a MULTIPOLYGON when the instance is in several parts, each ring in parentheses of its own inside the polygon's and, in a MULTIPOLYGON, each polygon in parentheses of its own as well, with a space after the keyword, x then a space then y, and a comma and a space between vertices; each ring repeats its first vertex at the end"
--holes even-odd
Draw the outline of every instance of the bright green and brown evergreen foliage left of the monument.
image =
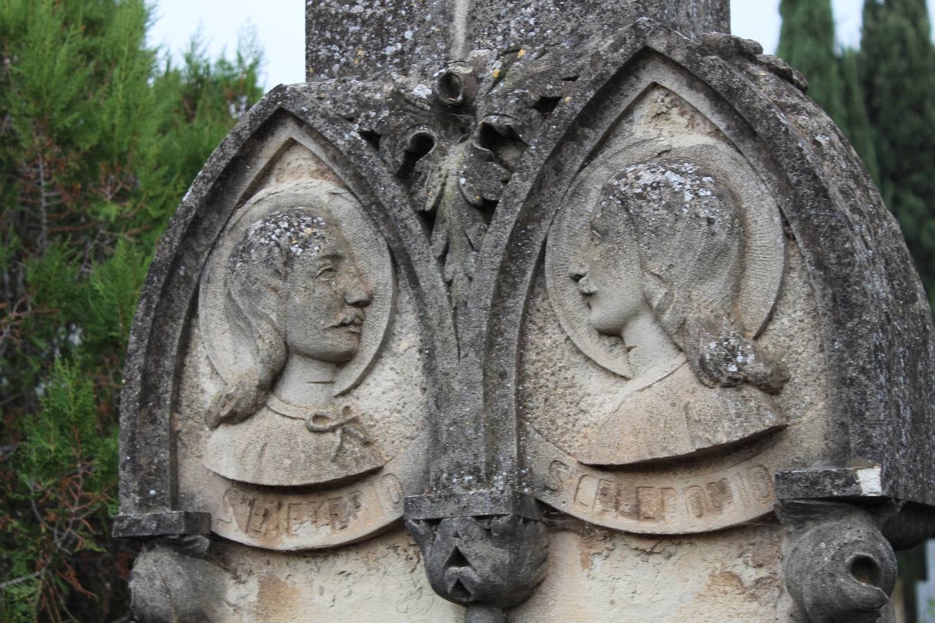
POLYGON ((262 94, 259 52, 180 67, 143 0, 0 2, 0 620, 106 621, 122 359, 158 236, 262 94))

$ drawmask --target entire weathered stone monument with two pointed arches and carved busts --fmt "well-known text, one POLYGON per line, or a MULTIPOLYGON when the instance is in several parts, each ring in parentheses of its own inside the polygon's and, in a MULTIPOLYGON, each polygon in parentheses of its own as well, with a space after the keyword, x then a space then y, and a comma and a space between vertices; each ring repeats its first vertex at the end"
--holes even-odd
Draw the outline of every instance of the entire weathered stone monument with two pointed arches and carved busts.
POLYGON ((322 0, 122 393, 140 621, 890 620, 926 296, 726 0, 322 0))

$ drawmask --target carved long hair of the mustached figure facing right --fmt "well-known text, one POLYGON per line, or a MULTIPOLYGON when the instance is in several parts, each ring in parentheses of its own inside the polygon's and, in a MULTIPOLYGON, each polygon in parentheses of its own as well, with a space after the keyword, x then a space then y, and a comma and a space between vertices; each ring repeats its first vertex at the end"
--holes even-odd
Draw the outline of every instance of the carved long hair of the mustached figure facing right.
POLYGON ((250 418, 265 403, 285 365, 283 311, 289 276, 298 258, 314 256, 334 235, 324 219, 295 207, 257 220, 237 242, 224 272, 224 310, 234 341, 249 357, 235 362, 237 376, 214 398, 210 429, 250 418))

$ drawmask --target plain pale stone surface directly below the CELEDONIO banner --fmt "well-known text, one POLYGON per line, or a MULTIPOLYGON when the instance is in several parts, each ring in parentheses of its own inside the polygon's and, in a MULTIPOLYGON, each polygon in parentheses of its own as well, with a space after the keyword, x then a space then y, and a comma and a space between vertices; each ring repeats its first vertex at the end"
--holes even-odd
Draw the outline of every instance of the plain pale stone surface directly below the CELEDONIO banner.
POLYGON ((511 621, 789 621, 782 539, 746 526, 671 538, 552 527, 549 570, 511 621))

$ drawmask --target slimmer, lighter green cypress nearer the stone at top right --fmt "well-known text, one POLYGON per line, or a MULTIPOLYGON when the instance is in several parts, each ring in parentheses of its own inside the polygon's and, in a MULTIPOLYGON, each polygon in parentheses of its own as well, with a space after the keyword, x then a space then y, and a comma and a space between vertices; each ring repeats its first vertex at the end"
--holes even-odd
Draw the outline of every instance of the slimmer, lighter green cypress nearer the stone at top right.
POLYGON ((809 95, 831 119, 845 120, 830 0, 782 0, 777 54, 809 79, 809 95))

